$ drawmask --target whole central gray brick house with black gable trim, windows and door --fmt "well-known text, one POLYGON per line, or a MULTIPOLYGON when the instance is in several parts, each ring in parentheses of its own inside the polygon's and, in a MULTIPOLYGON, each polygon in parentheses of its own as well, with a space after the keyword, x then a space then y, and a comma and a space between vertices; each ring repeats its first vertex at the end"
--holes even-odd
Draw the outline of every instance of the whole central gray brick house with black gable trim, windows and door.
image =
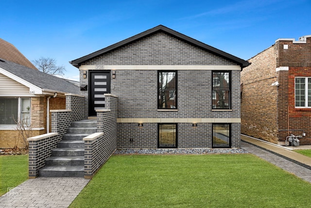
POLYGON ((247 61, 159 25, 70 63, 86 116, 118 97, 118 148, 240 148, 247 61))

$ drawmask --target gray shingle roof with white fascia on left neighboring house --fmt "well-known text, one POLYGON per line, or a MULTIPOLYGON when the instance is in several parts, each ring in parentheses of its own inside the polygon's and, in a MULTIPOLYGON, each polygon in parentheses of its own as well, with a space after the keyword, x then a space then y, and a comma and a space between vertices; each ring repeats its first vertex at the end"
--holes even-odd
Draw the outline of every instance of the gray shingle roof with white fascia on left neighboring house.
POLYGON ((80 94, 80 88, 65 79, 28 68, 9 60, 0 59, 0 73, 27 87, 34 87, 37 89, 35 94, 45 94, 43 93, 44 91, 80 94))

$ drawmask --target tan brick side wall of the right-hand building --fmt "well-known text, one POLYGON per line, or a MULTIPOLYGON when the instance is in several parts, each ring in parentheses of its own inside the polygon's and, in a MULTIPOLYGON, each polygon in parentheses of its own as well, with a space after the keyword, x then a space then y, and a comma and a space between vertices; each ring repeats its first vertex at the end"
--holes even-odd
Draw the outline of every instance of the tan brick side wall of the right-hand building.
POLYGON ((276 50, 271 46, 248 60, 241 72, 241 132, 277 143, 276 50))

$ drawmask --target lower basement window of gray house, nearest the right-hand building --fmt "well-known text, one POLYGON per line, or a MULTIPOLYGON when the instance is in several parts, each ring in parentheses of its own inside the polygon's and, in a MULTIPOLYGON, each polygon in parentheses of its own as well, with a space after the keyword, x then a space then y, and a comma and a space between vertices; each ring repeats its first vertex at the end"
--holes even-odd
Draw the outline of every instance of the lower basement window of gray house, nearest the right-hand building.
POLYGON ((212 148, 231 148, 230 124, 213 124, 212 148))

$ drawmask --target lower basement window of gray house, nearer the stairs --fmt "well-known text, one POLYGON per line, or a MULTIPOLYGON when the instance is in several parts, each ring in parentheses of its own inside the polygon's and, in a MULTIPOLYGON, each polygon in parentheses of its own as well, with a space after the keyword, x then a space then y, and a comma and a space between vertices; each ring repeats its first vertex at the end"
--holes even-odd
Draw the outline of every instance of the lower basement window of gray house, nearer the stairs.
POLYGON ((177 124, 158 124, 158 148, 177 148, 177 124))

